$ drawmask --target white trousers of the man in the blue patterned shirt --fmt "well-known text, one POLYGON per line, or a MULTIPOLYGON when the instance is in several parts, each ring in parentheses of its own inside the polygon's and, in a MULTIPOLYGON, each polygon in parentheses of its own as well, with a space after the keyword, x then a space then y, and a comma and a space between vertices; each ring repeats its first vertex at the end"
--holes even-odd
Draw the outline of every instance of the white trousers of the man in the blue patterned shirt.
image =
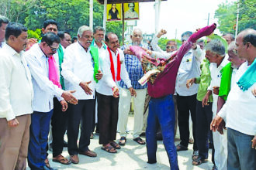
MULTIPOLYGON (((147 89, 136 90, 137 97, 133 97, 134 104, 134 126, 133 138, 140 136, 144 126, 144 103, 147 89)), ((119 114, 118 114, 118 130, 120 136, 126 137, 127 121, 130 112, 130 90, 122 88, 119 93, 119 114)))

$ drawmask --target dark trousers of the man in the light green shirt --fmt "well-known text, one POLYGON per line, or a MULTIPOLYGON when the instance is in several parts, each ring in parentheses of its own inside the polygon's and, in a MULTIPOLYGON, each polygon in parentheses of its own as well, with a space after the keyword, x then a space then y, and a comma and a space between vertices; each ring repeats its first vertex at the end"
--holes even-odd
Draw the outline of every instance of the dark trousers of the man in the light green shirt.
POLYGON ((208 106, 202 107, 202 101, 196 100, 196 141, 199 149, 199 156, 203 159, 208 158, 209 133, 213 133, 212 131, 209 131, 209 125, 213 120, 212 107, 213 103, 209 103, 208 106))

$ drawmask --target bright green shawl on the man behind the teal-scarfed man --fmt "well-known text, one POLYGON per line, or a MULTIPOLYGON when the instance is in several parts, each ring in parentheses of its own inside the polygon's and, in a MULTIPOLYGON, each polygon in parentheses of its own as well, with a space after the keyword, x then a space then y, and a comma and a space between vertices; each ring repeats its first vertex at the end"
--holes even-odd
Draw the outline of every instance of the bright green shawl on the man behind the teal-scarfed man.
POLYGON ((221 81, 219 97, 222 97, 224 100, 227 100, 228 93, 230 93, 232 72, 233 68, 231 67, 231 62, 224 66, 222 70, 220 70, 221 81))

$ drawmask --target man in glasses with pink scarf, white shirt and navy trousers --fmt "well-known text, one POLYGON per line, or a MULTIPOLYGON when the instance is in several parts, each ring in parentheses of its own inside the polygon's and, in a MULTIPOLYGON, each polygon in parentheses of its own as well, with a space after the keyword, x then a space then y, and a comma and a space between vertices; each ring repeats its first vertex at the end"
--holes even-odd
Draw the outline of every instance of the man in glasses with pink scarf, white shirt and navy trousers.
POLYGON ((46 147, 50 119, 54 108, 54 96, 58 97, 61 102, 62 111, 67 110, 67 102, 78 103, 78 100, 71 94, 74 91, 69 92, 61 89, 60 74, 57 71, 57 63, 53 56, 57 52, 60 42, 61 40, 57 35, 53 32, 47 32, 43 35, 40 44, 34 44, 25 53, 35 94, 28 155, 29 167, 32 169, 53 169, 47 167, 44 160, 47 158, 46 147))

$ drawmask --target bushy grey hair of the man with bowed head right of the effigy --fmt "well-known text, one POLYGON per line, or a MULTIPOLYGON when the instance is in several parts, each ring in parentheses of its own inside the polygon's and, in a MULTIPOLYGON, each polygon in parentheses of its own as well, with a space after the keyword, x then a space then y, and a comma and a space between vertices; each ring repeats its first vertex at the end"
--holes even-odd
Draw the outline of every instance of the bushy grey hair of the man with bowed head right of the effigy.
POLYGON ((225 46, 219 39, 213 39, 206 44, 206 51, 211 51, 212 53, 219 54, 220 56, 225 56, 225 46))

